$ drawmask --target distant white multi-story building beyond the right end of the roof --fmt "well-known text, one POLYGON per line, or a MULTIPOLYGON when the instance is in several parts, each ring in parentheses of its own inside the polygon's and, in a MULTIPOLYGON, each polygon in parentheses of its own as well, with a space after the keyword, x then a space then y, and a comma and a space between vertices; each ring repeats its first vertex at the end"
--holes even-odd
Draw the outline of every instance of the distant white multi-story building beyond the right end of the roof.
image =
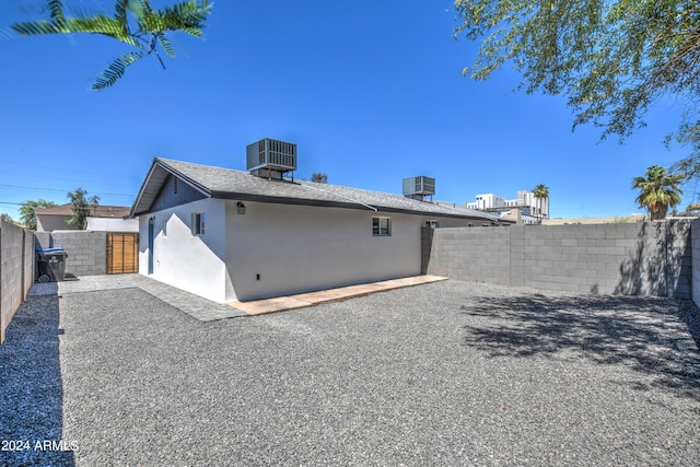
POLYGON ((535 198, 528 190, 517 191, 517 198, 505 199, 492 192, 477 195, 476 201, 466 202, 467 209, 497 212, 501 218, 521 224, 535 224, 540 219, 549 219, 549 198, 535 198))

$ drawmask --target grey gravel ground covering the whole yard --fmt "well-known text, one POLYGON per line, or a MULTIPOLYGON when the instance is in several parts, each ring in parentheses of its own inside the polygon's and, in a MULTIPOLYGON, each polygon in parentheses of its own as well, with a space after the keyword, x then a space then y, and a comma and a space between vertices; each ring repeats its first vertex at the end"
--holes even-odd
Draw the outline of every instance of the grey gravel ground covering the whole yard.
POLYGON ((685 301, 445 281, 200 323, 127 289, 7 336, 3 465, 700 465, 685 301))

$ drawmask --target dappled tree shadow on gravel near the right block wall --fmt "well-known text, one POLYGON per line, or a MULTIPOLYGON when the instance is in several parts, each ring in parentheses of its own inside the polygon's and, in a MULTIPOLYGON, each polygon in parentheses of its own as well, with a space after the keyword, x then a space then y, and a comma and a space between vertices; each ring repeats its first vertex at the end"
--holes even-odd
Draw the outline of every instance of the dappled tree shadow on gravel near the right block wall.
POLYGON ((700 400, 700 316, 689 301, 532 294, 479 297, 462 311, 476 317, 465 326, 465 345, 490 357, 575 352, 625 364, 652 376, 654 386, 700 400))

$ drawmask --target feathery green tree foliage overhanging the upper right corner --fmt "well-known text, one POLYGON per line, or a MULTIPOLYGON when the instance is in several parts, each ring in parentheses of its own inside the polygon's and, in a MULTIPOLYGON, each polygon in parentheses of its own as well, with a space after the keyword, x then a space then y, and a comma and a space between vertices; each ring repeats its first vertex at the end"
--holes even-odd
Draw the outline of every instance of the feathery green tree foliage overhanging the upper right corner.
POLYGON ((669 136, 700 162, 700 2, 688 0, 456 0, 455 38, 480 40, 464 74, 486 80, 510 62, 525 92, 562 94, 603 138, 620 141, 643 127, 654 102, 685 106, 669 136))

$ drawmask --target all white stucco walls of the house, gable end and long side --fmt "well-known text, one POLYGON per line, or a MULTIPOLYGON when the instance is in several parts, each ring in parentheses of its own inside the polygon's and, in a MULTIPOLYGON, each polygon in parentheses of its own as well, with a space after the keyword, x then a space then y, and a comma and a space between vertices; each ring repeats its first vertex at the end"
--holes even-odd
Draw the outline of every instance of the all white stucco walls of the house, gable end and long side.
POLYGON ((153 279, 217 302, 303 293, 421 272, 421 226, 468 221, 340 208, 205 199, 139 218, 139 272, 148 275, 154 218, 153 279), (203 235, 191 213, 206 213, 203 235), (392 219, 390 236, 372 218, 392 219), (166 232, 163 232, 163 221, 166 232), (258 279, 259 276, 259 279, 258 279))

